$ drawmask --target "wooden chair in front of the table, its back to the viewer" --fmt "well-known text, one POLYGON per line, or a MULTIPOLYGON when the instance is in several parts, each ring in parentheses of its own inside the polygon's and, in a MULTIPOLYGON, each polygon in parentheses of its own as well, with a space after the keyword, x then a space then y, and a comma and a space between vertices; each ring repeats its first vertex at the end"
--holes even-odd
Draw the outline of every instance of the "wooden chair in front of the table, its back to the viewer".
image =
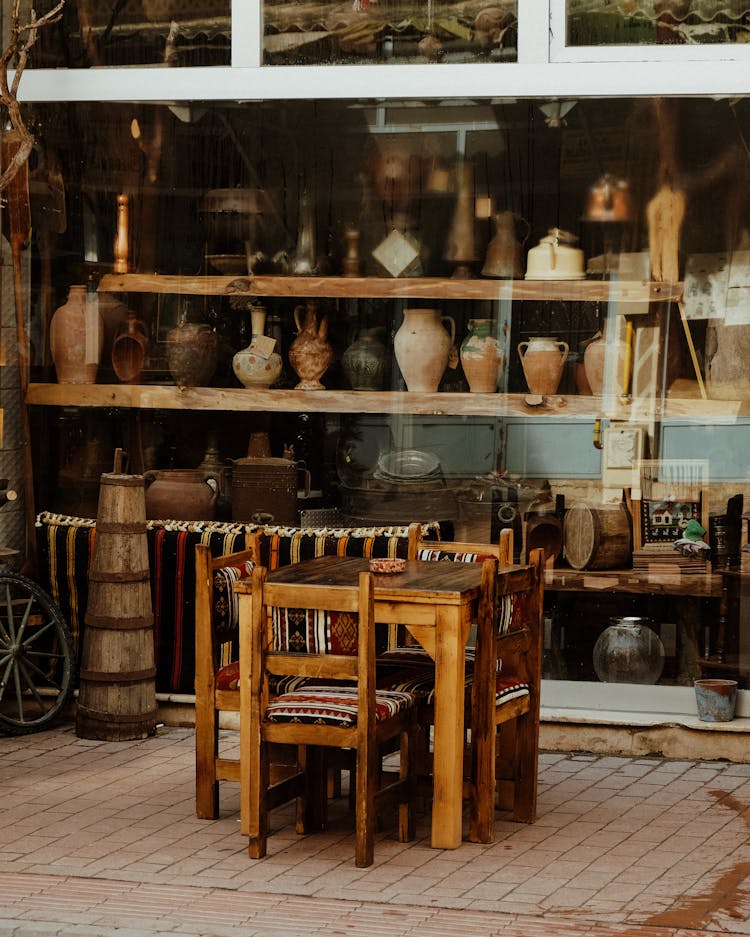
POLYGON ((361 573, 358 586, 311 590, 268 582, 266 570, 257 567, 251 598, 249 613, 240 615, 241 823, 250 837, 249 855, 265 856, 270 811, 291 799, 297 800, 298 831, 325 825, 324 752, 352 749, 355 861, 369 866, 377 811, 386 803, 398 804, 399 839, 414 837, 416 736, 414 695, 375 687, 372 574, 361 573), (307 627, 310 616, 318 628, 307 627), (272 697, 272 680, 282 676, 325 683, 280 693, 277 686, 272 697), (396 738, 398 776, 379 787, 381 746, 396 738), (298 770, 276 783, 269 768, 274 743, 299 751, 298 770))

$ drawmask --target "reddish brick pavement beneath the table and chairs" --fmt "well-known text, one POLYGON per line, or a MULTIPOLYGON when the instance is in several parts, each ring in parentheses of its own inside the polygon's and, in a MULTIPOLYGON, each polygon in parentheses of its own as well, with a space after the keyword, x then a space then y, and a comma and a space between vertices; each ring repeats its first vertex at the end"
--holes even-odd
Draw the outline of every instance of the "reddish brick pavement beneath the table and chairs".
POLYGON ((750 765, 543 753, 534 825, 441 851, 424 816, 369 869, 343 803, 249 859, 236 785, 198 820, 193 767, 192 729, 0 737, 0 937, 750 935, 750 765))

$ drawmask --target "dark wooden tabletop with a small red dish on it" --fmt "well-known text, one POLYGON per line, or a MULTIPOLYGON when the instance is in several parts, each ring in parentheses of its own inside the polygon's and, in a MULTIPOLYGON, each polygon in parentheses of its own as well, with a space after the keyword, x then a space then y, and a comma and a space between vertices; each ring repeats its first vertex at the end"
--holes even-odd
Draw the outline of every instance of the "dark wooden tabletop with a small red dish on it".
MULTIPOLYGON (((358 556, 318 556, 301 563, 282 566, 268 574, 271 582, 297 585, 352 585, 360 572, 367 572, 369 563, 358 556)), ((373 585, 378 601, 440 602, 459 604, 479 596, 482 578, 481 563, 449 563, 407 560, 401 573, 375 573, 373 585)), ((247 579, 234 583, 237 593, 252 590, 247 579)))

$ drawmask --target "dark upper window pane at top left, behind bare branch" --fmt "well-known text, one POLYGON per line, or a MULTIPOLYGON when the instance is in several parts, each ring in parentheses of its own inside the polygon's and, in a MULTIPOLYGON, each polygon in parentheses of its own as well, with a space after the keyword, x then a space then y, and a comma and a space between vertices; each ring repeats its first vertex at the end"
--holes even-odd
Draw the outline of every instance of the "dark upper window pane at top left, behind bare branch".
MULTIPOLYGON (((39 0, 38 16, 56 0, 39 0)), ((66 0, 40 30, 30 66, 231 64, 231 0, 66 0)))

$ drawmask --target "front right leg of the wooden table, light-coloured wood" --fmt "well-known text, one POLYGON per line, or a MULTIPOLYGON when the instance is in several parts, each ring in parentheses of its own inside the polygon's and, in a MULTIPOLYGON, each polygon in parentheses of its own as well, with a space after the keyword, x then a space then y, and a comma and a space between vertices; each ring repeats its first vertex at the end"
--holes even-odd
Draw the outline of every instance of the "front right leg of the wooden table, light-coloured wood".
POLYGON ((466 634, 461 610, 439 608, 436 625, 432 846, 456 849, 463 811, 466 634))

